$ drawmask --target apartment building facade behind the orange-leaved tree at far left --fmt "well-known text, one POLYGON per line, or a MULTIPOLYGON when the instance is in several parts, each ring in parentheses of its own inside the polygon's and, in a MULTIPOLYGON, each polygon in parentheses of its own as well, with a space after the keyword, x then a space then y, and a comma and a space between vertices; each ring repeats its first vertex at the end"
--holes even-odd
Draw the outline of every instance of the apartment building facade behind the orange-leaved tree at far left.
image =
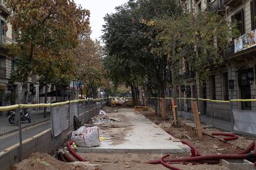
MULTIPOLYGON (((5 6, 5 1, 0 0, 0 106, 11 105, 19 102, 22 84, 10 83, 11 72, 15 70, 15 61, 8 55, 5 44, 15 43, 15 34, 12 26, 6 23, 7 17, 12 15, 11 10, 5 6)), ((38 103, 39 84, 36 76, 28 79, 28 103, 38 103)), ((3 115, 0 113, 0 116, 3 115)))

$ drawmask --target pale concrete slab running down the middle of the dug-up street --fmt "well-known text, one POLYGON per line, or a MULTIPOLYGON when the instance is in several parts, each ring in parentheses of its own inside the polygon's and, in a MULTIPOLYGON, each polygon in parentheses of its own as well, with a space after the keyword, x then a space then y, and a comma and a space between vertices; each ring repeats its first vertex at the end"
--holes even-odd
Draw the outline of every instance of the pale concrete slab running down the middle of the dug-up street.
MULTIPOLYGON (((109 113, 108 113, 109 114, 109 113)), ((108 115, 107 114, 107 115, 108 115)), ((122 119, 119 125, 129 124, 130 129, 114 128, 105 131, 100 129, 100 136, 108 140, 101 142, 99 147, 77 148, 77 152, 95 152, 95 153, 184 153, 190 152, 187 145, 181 142, 173 142, 171 135, 163 131, 159 126, 152 123, 143 115, 134 114, 133 109, 122 108, 118 113, 110 113, 109 116, 122 119), (112 115, 111 115, 112 114, 112 115), (122 118, 121 118, 122 117, 122 118), (116 131, 116 134, 124 134, 122 142, 118 143, 111 140, 111 136, 106 132, 116 131)), ((118 140, 118 138, 117 138, 118 140)))

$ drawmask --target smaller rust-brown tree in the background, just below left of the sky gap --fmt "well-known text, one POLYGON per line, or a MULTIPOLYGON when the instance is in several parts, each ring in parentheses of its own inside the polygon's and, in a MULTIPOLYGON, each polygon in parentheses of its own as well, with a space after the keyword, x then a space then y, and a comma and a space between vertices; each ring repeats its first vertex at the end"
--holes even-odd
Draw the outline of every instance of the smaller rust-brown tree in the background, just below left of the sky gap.
MULTIPOLYGON (((80 35, 80 43, 75 51, 76 78, 83 82, 89 95, 90 90, 95 91, 106 85, 105 70, 103 69, 103 49, 99 41, 90 38, 91 31, 80 35)), ((80 91, 82 96, 82 89, 80 91)))

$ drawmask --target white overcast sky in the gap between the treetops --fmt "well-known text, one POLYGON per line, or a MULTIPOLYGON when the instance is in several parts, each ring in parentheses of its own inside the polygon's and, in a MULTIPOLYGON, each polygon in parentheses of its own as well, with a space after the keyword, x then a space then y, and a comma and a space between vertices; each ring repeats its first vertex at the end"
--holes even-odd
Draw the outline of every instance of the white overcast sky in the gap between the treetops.
POLYGON ((114 7, 126 3, 127 0, 75 0, 75 3, 81 4, 84 9, 91 12, 90 25, 92 27, 92 39, 100 39, 102 35, 102 25, 105 15, 113 13, 114 7))

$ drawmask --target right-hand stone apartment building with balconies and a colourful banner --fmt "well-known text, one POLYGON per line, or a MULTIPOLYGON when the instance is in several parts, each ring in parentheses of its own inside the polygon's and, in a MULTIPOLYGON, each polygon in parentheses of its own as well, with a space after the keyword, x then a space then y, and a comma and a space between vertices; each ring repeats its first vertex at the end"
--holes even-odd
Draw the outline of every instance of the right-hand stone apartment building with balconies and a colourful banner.
MULTIPOLYGON (((228 21, 237 20, 241 36, 231 38, 228 48, 223 52, 224 64, 212 70, 206 85, 198 89, 198 96, 212 100, 256 99, 256 1, 255 0, 187 0, 182 1, 186 9, 203 10, 213 6, 228 21), (213 5, 214 4, 214 5, 213 5)), ((186 49, 182 55, 186 56, 186 49)), ((185 83, 179 88, 180 97, 195 97, 194 78, 196 73, 186 69, 183 73, 185 83)), ((183 110, 190 111, 189 101, 182 103, 183 110)), ((255 112, 256 102, 233 102, 233 112, 255 112)), ((229 103, 200 102, 200 113, 224 121, 231 121, 229 103)))

